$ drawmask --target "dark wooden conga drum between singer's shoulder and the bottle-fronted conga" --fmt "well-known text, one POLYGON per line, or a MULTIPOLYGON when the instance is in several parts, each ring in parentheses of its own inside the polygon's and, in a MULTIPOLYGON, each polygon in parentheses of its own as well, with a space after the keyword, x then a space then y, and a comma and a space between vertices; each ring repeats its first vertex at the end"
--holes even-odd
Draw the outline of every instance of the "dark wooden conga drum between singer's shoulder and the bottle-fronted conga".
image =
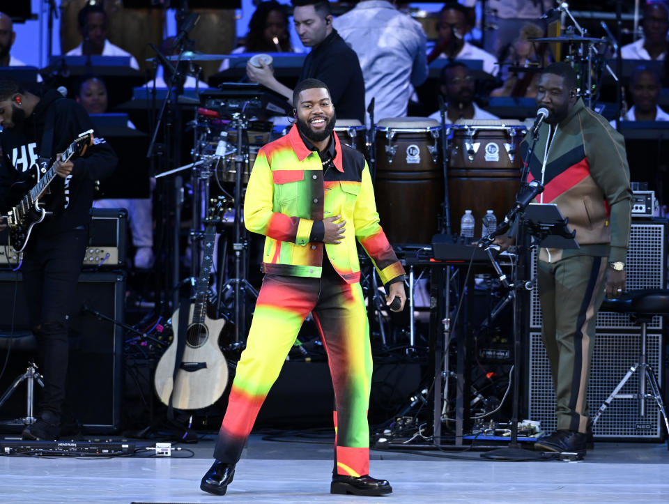
POLYGON ((376 125, 374 194, 390 243, 431 243, 444 199, 441 126, 425 117, 376 125))

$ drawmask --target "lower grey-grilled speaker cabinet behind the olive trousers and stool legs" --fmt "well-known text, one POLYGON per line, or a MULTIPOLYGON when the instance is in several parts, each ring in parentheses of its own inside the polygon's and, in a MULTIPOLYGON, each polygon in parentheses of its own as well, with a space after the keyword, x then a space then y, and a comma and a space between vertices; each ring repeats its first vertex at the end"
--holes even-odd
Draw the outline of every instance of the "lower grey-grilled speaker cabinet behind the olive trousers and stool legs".
MULTIPOLYGON (((659 333, 647 333, 647 362, 654 369, 659 383, 662 383, 661 342, 659 333)), ((624 333, 597 331, 590 369, 590 386, 587 402, 592 418, 615 386, 635 362, 639 362, 641 353, 641 330, 635 328, 624 333)), ((659 440, 662 434, 663 420, 656 402, 646 399, 646 415, 640 417, 638 399, 640 371, 637 370, 618 392, 624 397, 617 397, 606 408, 594 425, 593 434, 597 438, 629 438, 659 440)), ((530 333, 530 369, 529 369, 529 418, 539 420, 546 432, 555 430, 555 393, 551 366, 548 363, 541 333, 530 333)))

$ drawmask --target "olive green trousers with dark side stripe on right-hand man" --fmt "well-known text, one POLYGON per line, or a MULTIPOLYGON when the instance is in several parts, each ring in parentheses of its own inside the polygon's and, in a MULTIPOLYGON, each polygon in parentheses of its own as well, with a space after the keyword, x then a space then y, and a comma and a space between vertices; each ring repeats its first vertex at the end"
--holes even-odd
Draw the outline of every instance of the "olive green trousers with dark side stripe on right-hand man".
POLYGON ((539 299, 551 363, 557 429, 587 430, 587 382, 597 311, 604 298, 606 257, 575 256, 539 261, 539 299))

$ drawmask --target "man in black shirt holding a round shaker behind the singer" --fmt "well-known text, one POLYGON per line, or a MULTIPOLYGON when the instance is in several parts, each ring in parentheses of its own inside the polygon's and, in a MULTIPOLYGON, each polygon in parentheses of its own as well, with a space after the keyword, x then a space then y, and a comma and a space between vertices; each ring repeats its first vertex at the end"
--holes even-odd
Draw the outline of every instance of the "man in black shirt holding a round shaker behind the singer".
MULTIPOLYGON (((319 79, 328 84, 332 102, 341 119, 357 119, 364 123, 364 79, 355 51, 346 45, 332 28, 332 11, 328 0, 293 0, 293 21, 302 44, 312 47, 300 72, 300 79, 319 79)), ((289 101, 293 90, 279 82, 270 66, 250 62, 246 72, 253 82, 263 84, 289 101)), ((298 82, 299 82, 298 81, 298 82)))

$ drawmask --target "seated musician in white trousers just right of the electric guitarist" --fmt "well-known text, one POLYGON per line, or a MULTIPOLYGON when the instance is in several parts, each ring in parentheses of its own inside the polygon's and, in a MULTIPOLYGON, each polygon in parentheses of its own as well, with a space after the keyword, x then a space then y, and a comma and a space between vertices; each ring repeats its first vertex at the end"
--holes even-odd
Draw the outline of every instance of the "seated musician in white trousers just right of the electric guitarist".
MULTIPOLYGON (((77 102, 89 114, 107 112, 107 86, 101 77, 84 76, 77 85, 77 102)), ((128 121, 128 128, 134 125, 128 121)), ((132 245, 137 247, 132 264, 135 268, 146 269, 153 266, 153 205, 146 199, 98 199, 94 208, 125 208, 132 233, 132 245)))

